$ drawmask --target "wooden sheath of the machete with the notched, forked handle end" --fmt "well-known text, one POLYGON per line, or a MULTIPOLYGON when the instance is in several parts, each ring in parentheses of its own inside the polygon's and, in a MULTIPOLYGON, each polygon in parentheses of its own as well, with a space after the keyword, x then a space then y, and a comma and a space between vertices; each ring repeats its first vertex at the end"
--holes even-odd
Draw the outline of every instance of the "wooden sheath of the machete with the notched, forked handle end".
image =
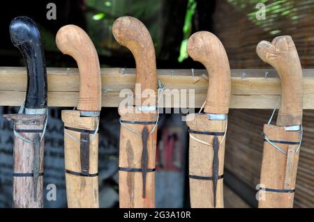
MULTIPOLYGON (((264 134, 269 140, 299 142, 301 137, 300 131, 287 132, 285 127, 275 125, 264 125, 264 134)), ((281 149, 287 152, 288 148, 297 149, 298 145, 278 144, 281 149)), ((297 167, 299 161, 299 152, 293 155, 292 174, 290 176, 290 188, 295 189, 297 177, 297 167)), ((262 168, 260 175, 260 184, 269 189, 285 189, 285 173, 287 166, 287 155, 279 152, 267 141, 264 141, 264 150, 262 158, 262 168)), ((293 207, 294 193, 276 193, 268 191, 260 191, 262 199, 258 203, 258 207, 265 208, 287 208, 293 207)))

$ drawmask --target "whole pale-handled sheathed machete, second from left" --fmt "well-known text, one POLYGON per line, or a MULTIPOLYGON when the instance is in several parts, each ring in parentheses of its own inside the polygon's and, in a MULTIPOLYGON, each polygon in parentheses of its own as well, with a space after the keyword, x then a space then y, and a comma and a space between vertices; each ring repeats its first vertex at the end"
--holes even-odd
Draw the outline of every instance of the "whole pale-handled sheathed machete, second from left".
POLYGON ((99 207, 98 123, 101 109, 100 66, 93 42, 80 27, 59 29, 57 47, 72 56, 80 70, 77 110, 63 110, 64 158, 68 207, 99 207))

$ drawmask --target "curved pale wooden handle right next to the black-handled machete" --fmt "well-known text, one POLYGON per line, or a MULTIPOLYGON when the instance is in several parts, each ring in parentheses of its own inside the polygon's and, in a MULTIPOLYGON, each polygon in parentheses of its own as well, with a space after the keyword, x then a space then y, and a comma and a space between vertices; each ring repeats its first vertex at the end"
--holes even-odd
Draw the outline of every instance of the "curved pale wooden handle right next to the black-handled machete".
POLYGON ((97 51, 89 35, 78 26, 66 25, 59 29, 56 43, 63 54, 75 59, 80 70, 80 95, 77 109, 100 111, 100 66, 97 51))

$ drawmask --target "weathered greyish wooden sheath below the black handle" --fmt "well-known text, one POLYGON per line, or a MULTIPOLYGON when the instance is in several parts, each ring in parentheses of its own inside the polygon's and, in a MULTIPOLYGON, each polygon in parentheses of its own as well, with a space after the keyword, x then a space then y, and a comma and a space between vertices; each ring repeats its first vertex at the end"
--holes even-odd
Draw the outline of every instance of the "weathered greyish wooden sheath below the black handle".
MULTIPOLYGON (((13 120, 18 134, 30 141, 33 141, 35 133, 19 131, 39 129, 43 132, 45 115, 7 114, 3 116, 7 120, 13 120)), ((41 133, 39 135, 41 136, 41 133)), ((44 139, 40 141, 39 173, 44 171, 44 143, 44 139)), ((15 136, 13 150, 13 207, 15 208, 43 207, 43 175, 38 177, 36 201, 34 198, 33 176, 15 176, 18 173, 33 173, 33 157, 33 145, 15 136)))

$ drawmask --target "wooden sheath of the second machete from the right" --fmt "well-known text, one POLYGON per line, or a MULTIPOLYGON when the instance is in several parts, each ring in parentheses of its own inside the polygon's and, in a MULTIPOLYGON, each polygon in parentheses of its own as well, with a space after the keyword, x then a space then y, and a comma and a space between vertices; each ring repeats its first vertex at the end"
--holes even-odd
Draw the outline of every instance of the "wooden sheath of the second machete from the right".
MULTIPOLYGON (((209 120, 204 114, 189 114, 191 120, 186 122, 191 130, 201 132, 225 132, 226 120, 209 120)), ((203 134, 192 134, 195 138, 212 144, 214 136, 203 134)), ((218 136, 218 141, 223 136, 218 136)), ((219 168, 218 175, 223 175, 225 155, 225 141, 219 145, 218 159, 219 168)), ((189 147, 189 174, 203 177, 212 177, 214 150, 209 145, 204 145, 193 138, 190 138, 189 147)), ((212 208, 214 207, 214 191, 212 180, 196 180, 190 178, 190 206, 195 208, 212 208)), ((217 182, 216 191, 216 207, 224 207, 223 205, 223 179, 217 182)))

